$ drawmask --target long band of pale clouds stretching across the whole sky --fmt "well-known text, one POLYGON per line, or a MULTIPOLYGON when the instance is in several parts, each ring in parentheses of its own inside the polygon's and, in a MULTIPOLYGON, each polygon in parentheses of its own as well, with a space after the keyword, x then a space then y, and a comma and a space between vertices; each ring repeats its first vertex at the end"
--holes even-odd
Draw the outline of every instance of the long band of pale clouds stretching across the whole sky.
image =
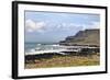
POLYGON ((80 31, 87 28, 99 28, 99 22, 90 22, 90 24, 77 24, 77 23, 52 23, 51 21, 34 22, 32 20, 25 21, 25 30, 29 33, 48 33, 48 32, 69 32, 69 31, 80 31))

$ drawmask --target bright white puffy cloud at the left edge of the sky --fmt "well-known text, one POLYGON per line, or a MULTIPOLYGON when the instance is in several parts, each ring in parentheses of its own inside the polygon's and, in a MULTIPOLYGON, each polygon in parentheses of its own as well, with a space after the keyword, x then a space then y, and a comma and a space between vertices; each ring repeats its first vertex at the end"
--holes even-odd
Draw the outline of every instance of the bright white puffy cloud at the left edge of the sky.
POLYGON ((30 33, 31 32, 43 32, 45 25, 46 24, 44 22, 34 22, 32 20, 25 21, 25 30, 30 33))

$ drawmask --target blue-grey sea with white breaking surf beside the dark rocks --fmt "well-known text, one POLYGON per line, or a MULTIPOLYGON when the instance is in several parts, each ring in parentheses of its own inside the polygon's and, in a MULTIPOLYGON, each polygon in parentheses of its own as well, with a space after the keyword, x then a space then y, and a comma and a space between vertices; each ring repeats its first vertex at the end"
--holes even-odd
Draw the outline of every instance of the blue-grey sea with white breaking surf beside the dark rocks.
POLYGON ((69 52, 80 52, 80 48, 87 46, 63 46, 55 43, 25 43, 24 50, 25 55, 44 54, 44 53, 57 53, 67 55, 69 52))

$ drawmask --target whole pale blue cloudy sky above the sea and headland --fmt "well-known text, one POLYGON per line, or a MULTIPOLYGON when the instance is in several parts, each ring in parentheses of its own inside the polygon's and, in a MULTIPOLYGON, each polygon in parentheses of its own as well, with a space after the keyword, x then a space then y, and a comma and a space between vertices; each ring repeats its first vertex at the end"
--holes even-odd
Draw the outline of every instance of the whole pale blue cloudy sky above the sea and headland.
POLYGON ((99 26, 99 14, 25 11, 25 42, 57 43, 99 26))

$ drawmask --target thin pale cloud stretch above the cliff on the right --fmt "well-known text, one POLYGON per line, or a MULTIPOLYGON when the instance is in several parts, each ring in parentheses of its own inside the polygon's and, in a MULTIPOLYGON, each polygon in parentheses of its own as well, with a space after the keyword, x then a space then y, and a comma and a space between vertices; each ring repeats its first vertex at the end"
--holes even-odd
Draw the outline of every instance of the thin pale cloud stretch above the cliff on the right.
POLYGON ((100 27, 100 22, 90 22, 89 24, 77 24, 77 23, 61 23, 57 25, 57 30, 61 31, 81 31, 81 30, 88 30, 88 28, 99 28, 100 27))

